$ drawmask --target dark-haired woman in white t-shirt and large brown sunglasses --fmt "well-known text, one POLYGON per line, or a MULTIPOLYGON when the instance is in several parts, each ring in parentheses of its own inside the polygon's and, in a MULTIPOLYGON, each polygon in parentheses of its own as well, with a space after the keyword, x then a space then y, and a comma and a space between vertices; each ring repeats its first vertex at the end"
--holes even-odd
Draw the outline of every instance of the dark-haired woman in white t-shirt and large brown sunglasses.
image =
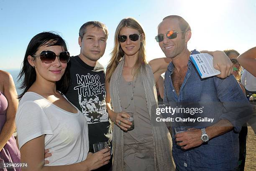
POLYGON ((69 58, 64 40, 52 32, 39 33, 28 45, 16 114, 23 170, 87 171, 109 162, 109 149, 87 154, 87 121, 62 94, 69 83, 69 58), (44 165, 44 149, 54 154, 50 164, 44 165))

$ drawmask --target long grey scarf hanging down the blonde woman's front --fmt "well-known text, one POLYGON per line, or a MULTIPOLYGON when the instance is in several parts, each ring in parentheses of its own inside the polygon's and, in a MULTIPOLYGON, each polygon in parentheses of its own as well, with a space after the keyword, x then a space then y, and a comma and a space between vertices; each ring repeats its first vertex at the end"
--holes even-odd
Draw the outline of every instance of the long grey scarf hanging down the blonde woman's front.
MULTIPOLYGON (((110 97, 115 112, 122 112, 117 90, 119 89, 119 82, 123 72, 124 61, 125 60, 123 57, 110 79, 110 97)), ((154 171, 174 171, 175 165, 172 158, 172 137, 165 123, 156 123, 156 114, 151 114, 151 110, 155 111, 154 109, 157 107, 157 96, 154 74, 150 65, 142 65, 140 68, 140 74, 145 89, 148 114, 153 131, 154 171), (154 122, 154 125, 152 124, 152 121, 154 122)), ((114 126, 113 131, 112 169, 113 171, 123 171, 123 131, 117 125, 114 126)))

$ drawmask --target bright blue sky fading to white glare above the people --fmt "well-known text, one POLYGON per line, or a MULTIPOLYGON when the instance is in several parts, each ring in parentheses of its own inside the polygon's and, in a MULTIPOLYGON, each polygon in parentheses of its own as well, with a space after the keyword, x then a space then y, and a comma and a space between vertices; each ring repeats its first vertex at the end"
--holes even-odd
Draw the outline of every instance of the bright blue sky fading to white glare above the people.
POLYGON ((256 46, 256 0, 0 0, 0 69, 20 69, 29 41, 43 31, 59 33, 70 54, 78 55, 79 28, 92 20, 105 23, 109 30, 99 60, 106 66, 115 29, 125 17, 141 23, 148 60, 164 57, 154 37, 168 15, 179 15, 189 23, 189 50, 242 53, 256 46))

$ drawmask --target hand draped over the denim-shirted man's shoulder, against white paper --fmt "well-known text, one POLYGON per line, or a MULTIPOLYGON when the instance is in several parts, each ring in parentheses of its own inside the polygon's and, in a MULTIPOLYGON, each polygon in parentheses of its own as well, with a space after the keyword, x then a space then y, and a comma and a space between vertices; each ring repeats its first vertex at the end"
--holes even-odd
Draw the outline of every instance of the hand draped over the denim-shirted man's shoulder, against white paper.
POLYGON ((213 67, 220 71, 220 74, 216 75, 217 77, 226 78, 231 74, 233 70, 233 64, 225 52, 219 50, 213 52, 203 50, 201 53, 208 53, 213 56, 213 67))

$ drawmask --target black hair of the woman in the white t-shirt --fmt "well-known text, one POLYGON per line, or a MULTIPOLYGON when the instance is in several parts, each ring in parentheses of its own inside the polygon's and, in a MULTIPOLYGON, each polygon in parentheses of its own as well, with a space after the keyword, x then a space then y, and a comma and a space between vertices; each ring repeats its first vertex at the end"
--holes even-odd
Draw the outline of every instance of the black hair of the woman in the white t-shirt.
MULTIPOLYGON (((24 91, 18 96, 18 99, 23 97, 23 95, 28 91, 31 85, 36 81, 36 70, 28 63, 28 56, 35 55, 39 47, 41 46, 61 46, 64 51, 67 51, 67 45, 65 40, 61 38, 60 35, 54 32, 41 32, 35 35, 28 44, 26 54, 23 60, 22 69, 18 75, 18 80, 21 81, 20 89, 24 91)), ((56 89, 61 93, 66 93, 69 87, 70 80, 70 68, 69 62, 67 63, 67 68, 59 81, 56 82, 56 89)))

